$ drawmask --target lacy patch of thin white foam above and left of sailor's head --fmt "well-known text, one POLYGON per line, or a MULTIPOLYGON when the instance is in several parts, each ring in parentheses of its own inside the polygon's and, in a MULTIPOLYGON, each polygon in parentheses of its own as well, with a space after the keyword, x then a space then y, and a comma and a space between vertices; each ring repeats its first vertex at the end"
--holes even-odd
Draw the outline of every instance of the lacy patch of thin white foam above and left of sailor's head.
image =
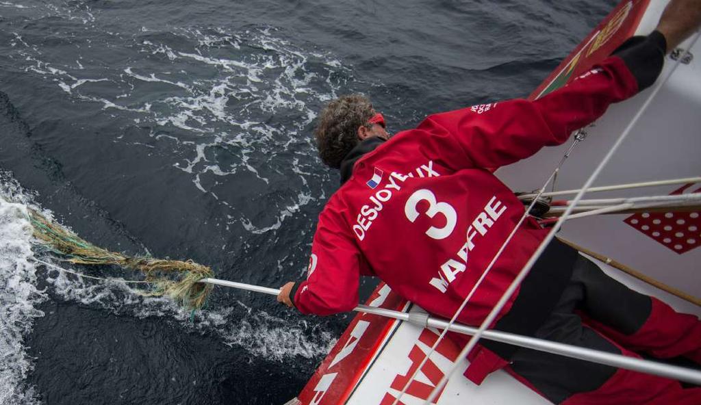
MULTIPOLYGON (((60 17, 80 18, 84 24, 93 24, 99 18, 90 8, 81 11, 47 5, 46 9, 60 17)), ((94 29, 99 30, 99 25, 94 29)), ((313 154, 313 144, 306 132, 318 105, 336 97, 336 90, 352 76, 351 72, 333 57, 281 39, 270 27, 245 32, 177 28, 168 34, 182 40, 172 42, 178 44, 174 46, 154 38, 132 39, 137 52, 154 55, 151 62, 161 65, 162 69, 154 71, 145 68, 153 66, 150 62, 126 64, 133 60, 125 60, 122 66, 83 67, 83 62, 76 67, 75 58, 49 59, 41 48, 18 35, 13 43, 27 60, 26 71, 53 81, 68 97, 97 103, 104 110, 118 110, 120 116, 128 115, 139 126, 156 128, 153 136, 168 132, 175 142, 161 142, 158 147, 172 147, 172 166, 189 174, 194 188, 231 210, 233 221, 240 221, 247 231, 265 233, 280 228, 299 212, 299 207, 323 195, 328 177, 312 167, 317 162, 308 158, 313 154), (105 83, 99 87, 87 85, 95 82, 105 83), (163 83, 172 90, 165 86, 153 92, 154 83, 163 83), (114 91, 104 91, 107 87, 114 91), (223 149, 224 158, 219 152, 223 149), (292 156, 288 151, 294 151, 292 156), (293 197, 294 201, 273 199, 261 206, 261 210, 278 212, 273 216, 242 212, 226 197, 220 198, 221 193, 215 193, 215 187, 226 180, 212 179, 241 172, 252 173, 266 185, 284 172, 297 177, 295 184, 299 184, 301 193, 293 197), (310 181, 315 176, 320 178, 310 181)), ((107 40, 98 36, 95 41, 107 40)), ((81 48, 81 61, 93 58, 86 48, 81 48)), ((123 135, 115 140, 153 148, 146 140, 125 139, 123 135)))

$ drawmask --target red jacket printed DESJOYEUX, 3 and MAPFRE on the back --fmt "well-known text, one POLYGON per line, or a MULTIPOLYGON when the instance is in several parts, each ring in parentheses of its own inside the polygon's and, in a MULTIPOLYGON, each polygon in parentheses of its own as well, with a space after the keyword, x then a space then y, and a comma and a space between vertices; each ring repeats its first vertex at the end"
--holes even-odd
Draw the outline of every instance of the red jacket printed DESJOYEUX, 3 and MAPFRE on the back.
MULTIPOLYGON (((661 63, 655 62, 658 73, 661 63)), ((658 73, 650 80, 640 73, 649 67, 637 71, 631 64, 640 63, 614 55, 535 101, 434 114, 386 142, 361 142, 346 156, 343 185, 320 214, 307 279, 292 289, 294 306, 317 315, 352 310, 360 276, 371 275, 429 313, 450 318, 524 214, 524 205, 486 167, 562 144, 609 104, 655 80, 658 73)), ((519 226, 458 322, 484 320, 547 232, 533 217, 519 226)), ((498 319, 513 311, 518 316, 496 328, 537 329, 562 294, 574 259, 576 252, 552 243, 498 319)))

